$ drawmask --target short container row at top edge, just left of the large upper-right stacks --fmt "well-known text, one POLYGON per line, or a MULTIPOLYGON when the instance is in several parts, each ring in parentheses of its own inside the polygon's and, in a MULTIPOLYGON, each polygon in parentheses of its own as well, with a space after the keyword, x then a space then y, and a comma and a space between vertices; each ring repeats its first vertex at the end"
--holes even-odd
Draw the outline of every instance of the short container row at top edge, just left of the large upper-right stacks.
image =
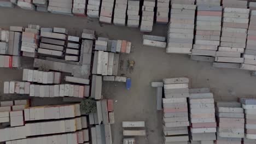
POLYGON ((156 7, 156 23, 162 23, 162 24, 168 23, 169 5, 170 5, 169 0, 158 0, 157 7, 156 7))

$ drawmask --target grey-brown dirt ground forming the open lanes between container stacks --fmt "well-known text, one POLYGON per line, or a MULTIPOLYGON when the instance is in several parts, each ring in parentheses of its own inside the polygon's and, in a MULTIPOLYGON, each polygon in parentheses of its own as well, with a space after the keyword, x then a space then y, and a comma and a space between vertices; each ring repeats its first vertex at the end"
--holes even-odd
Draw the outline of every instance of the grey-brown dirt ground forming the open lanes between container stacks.
MULTIPOLYGON (((145 121, 147 136, 136 137, 137 143, 162 143, 162 113, 156 111, 156 88, 150 82, 169 77, 189 77, 191 88, 209 87, 216 100, 236 100, 238 97, 255 97, 256 77, 249 71, 213 68, 211 63, 191 61, 188 55, 165 53, 165 49, 142 45, 142 35, 137 28, 104 25, 88 17, 76 17, 39 13, 23 9, 0 8, 0 27, 27 26, 28 23, 42 27, 64 27, 70 35, 80 36, 83 28, 93 29, 98 36, 110 39, 125 39, 132 43, 129 55, 121 54, 119 75, 131 77, 130 91, 125 83, 104 82, 103 95, 114 99, 115 124, 112 125, 113 143, 123 139, 122 121, 145 121), (133 70, 127 69, 127 60, 135 61, 133 70)), ((150 34, 166 36, 165 25, 154 26, 150 34)), ((29 62, 26 64, 30 64, 29 62)), ((24 65, 26 67, 27 65, 24 65)), ((0 93, 3 81, 21 80, 22 70, 0 69, 0 93)), ((23 96, 19 96, 23 97, 23 96)), ((1 99, 9 99, 2 95, 1 99)), ((37 99, 36 104, 57 104, 59 99, 37 99)))

